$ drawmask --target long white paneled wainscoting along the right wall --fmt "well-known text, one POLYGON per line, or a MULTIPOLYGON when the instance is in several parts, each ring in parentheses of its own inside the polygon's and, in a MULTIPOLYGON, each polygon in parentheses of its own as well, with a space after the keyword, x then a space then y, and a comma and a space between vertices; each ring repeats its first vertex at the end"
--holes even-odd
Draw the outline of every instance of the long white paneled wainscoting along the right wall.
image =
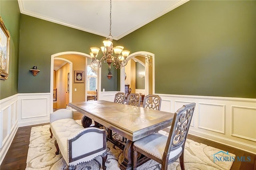
POLYGON ((166 112, 196 103, 190 134, 256 154, 256 99, 158 95, 166 112))

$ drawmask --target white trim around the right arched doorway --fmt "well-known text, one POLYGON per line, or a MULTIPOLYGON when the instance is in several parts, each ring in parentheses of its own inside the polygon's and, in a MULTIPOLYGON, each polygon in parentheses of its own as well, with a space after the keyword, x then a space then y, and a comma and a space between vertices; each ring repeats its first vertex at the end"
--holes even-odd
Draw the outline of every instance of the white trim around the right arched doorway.
MULTIPOLYGON (((146 52, 146 51, 138 51, 138 52, 134 52, 132 54, 130 54, 126 60, 130 60, 136 56, 139 55, 143 55, 143 54, 148 54, 150 56, 152 56, 153 62, 152 62, 152 94, 155 94, 155 54, 151 53, 151 52, 146 52)), ((148 87, 148 83, 149 83, 149 73, 148 73, 148 67, 149 64, 147 62, 145 62, 145 96, 148 95, 149 93, 149 87, 148 87)), ((121 68, 120 70, 120 91, 124 92, 124 74, 125 74, 125 70, 124 67, 121 68)))

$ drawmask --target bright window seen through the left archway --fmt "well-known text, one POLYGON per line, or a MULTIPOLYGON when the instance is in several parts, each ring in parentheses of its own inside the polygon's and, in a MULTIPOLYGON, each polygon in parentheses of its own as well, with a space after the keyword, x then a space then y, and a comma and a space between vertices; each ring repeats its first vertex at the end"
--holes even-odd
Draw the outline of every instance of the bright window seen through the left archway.
POLYGON ((97 89, 97 67, 87 66, 87 91, 97 89))

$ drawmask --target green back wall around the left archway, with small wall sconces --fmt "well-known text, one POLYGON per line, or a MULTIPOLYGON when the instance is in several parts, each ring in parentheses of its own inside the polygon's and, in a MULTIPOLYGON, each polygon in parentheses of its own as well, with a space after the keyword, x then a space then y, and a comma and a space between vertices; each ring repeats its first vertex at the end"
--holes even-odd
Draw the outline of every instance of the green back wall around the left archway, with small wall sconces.
MULTIPOLYGON (((105 39, 102 36, 21 14, 18 92, 50 92, 52 54, 65 51, 89 54, 90 47, 102 46, 105 39), (33 66, 40 70, 37 76, 33 76, 29 71, 33 66)), ((116 75, 114 68, 111 71, 116 75)), ((116 78, 108 80, 107 73, 108 66, 103 63, 101 87, 106 91, 115 91, 116 78)))

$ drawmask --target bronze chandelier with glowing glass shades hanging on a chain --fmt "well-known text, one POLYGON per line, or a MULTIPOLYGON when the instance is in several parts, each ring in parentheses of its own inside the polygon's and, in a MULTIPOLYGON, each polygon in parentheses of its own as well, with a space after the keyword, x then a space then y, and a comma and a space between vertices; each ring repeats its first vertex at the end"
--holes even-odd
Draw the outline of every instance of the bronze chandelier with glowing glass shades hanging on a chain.
POLYGON ((108 63, 108 68, 110 68, 111 64, 113 63, 113 66, 116 69, 120 69, 123 66, 126 66, 127 64, 127 56, 129 55, 130 51, 123 50, 123 46, 116 46, 113 48, 113 37, 111 35, 111 9, 112 9, 112 1, 110 0, 110 29, 109 29, 109 36, 106 37, 107 40, 103 41, 104 46, 100 47, 103 53, 102 58, 97 61, 97 56, 100 51, 100 48, 97 47, 91 47, 90 55, 92 57, 92 66, 94 67, 101 67, 101 61, 104 60, 104 62, 108 63), (116 56, 113 56, 113 51, 116 54, 116 56))

